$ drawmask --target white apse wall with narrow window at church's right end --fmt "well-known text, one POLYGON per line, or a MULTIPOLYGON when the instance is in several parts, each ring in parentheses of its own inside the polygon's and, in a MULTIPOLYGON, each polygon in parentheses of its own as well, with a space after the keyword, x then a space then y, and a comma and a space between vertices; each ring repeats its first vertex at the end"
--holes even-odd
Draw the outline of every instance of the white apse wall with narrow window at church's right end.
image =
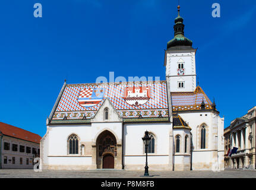
MULTIPOLYGON (((191 127, 193 153, 193 170, 211 170, 213 164, 219 164, 224 169, 224 121, 213 112, 187 112, 179 113, 185 122, 191 127), (200 126, 207 126, 207 147, 200 147, 200 126)), ((173 136, 174 137, 174 136, 173 136)))

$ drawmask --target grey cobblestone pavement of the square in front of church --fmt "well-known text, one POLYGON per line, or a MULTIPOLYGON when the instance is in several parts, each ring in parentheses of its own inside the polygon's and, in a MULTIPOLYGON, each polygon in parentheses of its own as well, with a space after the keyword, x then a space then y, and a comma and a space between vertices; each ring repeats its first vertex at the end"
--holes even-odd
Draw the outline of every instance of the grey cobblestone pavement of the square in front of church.
MULTIPOLYGON (((212 171, 149 171, 151 178, 256 178, 256 170, 212 171)), ((125 170, 43 170, 33 169, 1 169, 0 178, 141 178, 144 171, 125 170)), ((142 177, 143 178, 143 177, 142 177)))

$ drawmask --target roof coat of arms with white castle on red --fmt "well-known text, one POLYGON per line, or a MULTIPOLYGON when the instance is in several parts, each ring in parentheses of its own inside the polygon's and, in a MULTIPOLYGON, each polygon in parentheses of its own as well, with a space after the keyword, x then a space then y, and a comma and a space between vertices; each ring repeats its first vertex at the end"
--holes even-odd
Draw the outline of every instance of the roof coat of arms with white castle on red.
POLYGON ((141 106, 150 99, 151 88, 144 87, 126 87, 124 91, 124 100, 131 106, 141 106))

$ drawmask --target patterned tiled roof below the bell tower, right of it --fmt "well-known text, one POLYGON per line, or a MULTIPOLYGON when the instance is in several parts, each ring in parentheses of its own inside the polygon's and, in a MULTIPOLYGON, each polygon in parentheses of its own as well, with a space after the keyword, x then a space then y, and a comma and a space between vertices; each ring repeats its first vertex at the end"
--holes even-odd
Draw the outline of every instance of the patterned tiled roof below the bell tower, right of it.
POLYGON ((189 92, 172 92, 172 110, 182 111, 182 110, 200 110, 201 103, 204 101, 204 109, 213 109, 211 107, 212 103, 206 96, 206 93, 202 90, 200 86, 195 88, 195 91, 189 92))

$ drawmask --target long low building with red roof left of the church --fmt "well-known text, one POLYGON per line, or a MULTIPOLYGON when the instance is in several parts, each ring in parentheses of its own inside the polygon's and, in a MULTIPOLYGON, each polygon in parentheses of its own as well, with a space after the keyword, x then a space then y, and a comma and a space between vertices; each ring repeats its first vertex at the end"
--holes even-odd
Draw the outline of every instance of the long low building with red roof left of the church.
POLYGON ((40 140, 37 134, 0 122, 0 168, 33 169, 40 140))

